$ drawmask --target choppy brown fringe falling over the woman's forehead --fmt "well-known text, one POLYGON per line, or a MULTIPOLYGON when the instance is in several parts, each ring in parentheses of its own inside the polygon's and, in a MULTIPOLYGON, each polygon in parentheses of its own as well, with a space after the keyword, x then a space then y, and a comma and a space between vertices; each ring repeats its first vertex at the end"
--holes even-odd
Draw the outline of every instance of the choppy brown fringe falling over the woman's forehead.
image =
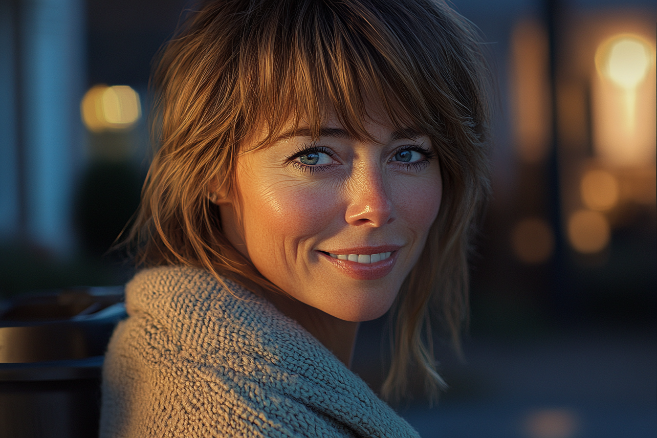
POLYGON ((358 6, 282 1, 252 23, 238 77, 246 125, 266 133, 261 147, 284 129, 307 127, 317 138, 330 116, 355 139, 373 140, 366 120, 436 134, 421 92, 426 78, 390 43, 397 37, 383 18, 358 6))

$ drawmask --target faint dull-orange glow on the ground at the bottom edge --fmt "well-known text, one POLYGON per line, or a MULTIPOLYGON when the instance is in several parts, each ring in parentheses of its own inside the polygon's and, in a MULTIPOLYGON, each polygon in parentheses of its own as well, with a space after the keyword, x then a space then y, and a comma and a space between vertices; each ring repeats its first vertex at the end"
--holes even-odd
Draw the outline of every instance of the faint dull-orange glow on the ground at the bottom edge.
POLYGON ((540 409, 528 414, 524 428, 529 438, 573 438, 579 432, 579 419, 571 410, 540 409))

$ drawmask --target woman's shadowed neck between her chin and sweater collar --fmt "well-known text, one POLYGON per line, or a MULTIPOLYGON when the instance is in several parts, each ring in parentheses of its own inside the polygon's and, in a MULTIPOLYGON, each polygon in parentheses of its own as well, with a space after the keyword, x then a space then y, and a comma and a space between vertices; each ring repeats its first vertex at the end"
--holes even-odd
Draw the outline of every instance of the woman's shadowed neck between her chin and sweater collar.
POLYGON ((296 320, 315 336, 348 368, 351 366, 358 322, 338 319, 306 303, 275 292, 266 293, 265 296, 281 313, 296 320))

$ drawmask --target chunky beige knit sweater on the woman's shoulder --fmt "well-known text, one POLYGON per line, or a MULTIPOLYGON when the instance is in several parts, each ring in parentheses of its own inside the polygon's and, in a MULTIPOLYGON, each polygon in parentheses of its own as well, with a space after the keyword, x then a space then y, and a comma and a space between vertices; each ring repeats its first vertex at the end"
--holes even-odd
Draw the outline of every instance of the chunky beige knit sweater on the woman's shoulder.
POLYGON ((419 436, 300 324, 226 284, 179 266, 127 284, 101 438, 419 436))

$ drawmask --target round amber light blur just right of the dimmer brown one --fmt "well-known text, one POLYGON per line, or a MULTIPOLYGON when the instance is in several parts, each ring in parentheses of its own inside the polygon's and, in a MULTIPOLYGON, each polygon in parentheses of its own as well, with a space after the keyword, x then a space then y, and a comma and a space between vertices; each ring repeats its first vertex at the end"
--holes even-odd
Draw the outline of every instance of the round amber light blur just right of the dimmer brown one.
POLYGON ((607 246, 609 238, 609 222, 597 211, 582 209, 568 218, 568 239, 578 252, 599 252, 607 246))

